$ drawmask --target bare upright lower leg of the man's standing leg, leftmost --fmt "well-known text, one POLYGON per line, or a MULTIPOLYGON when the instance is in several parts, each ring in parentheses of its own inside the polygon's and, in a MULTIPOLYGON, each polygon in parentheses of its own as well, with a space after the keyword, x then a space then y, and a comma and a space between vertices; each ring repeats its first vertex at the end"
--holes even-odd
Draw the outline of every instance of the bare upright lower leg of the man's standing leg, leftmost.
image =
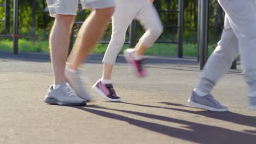
POLYGON ((65 65, 67 61, 73 15, 56 15, 50 34, 51 61, 54 71, 54 83, 60 85, 66 81, 65 65))

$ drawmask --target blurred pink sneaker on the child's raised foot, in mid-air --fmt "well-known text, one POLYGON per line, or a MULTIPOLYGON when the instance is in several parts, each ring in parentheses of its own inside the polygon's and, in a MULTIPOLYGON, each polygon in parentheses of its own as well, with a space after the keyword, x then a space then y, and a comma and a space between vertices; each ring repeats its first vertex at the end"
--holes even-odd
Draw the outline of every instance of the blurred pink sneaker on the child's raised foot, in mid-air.
POLYGON ((145 59, 135 59, 133 56, 133 49, 126 49, 124 51, 124 56, 129 65, 131 65, 132 69, 135 71, 135 75, 137 77, 145 77, 148 75, 148 71, 143 67, 145 59))

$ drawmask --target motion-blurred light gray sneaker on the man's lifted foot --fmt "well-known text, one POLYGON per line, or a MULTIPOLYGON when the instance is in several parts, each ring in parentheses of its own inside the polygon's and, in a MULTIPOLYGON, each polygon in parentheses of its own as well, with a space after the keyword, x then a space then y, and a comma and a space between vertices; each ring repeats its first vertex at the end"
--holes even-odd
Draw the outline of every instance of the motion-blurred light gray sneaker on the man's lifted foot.
POLYGON ((71 85, 71 87, 74 89, 75 94, 77 94, 78 97, 86 100, 91 101, 92 97, 90 93, 85 88, 83 79, 81 77, 82 70, 75 70, 75 73, 71 73, 70 71, 65 69, 65 75, 68 83, 71 85))

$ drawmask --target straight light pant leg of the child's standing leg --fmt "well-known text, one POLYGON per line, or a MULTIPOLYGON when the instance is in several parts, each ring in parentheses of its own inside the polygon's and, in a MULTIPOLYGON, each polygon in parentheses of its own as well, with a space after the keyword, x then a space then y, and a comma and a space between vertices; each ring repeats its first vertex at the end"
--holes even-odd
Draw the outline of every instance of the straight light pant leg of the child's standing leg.
POLYGON ((141 7, 138 0, 117 0, 112 16, 112 35, 103 62, 115 64, 115 59, 124 45, 125 34, 137 11, 141 7))

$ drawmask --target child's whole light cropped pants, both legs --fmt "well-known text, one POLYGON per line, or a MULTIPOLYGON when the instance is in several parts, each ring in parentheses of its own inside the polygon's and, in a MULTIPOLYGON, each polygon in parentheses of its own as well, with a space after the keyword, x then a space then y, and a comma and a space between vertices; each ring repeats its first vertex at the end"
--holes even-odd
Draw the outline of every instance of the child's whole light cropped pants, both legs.
POLYGON ((125 41, 127 28, 133 19, 138 20, 146 29, 139 41, 151 46, 162 33, 162 23, 153 4, 147 0, 116 0, 112 16, 112 36, 104 55, 103 62, 114 64, 125 41))

